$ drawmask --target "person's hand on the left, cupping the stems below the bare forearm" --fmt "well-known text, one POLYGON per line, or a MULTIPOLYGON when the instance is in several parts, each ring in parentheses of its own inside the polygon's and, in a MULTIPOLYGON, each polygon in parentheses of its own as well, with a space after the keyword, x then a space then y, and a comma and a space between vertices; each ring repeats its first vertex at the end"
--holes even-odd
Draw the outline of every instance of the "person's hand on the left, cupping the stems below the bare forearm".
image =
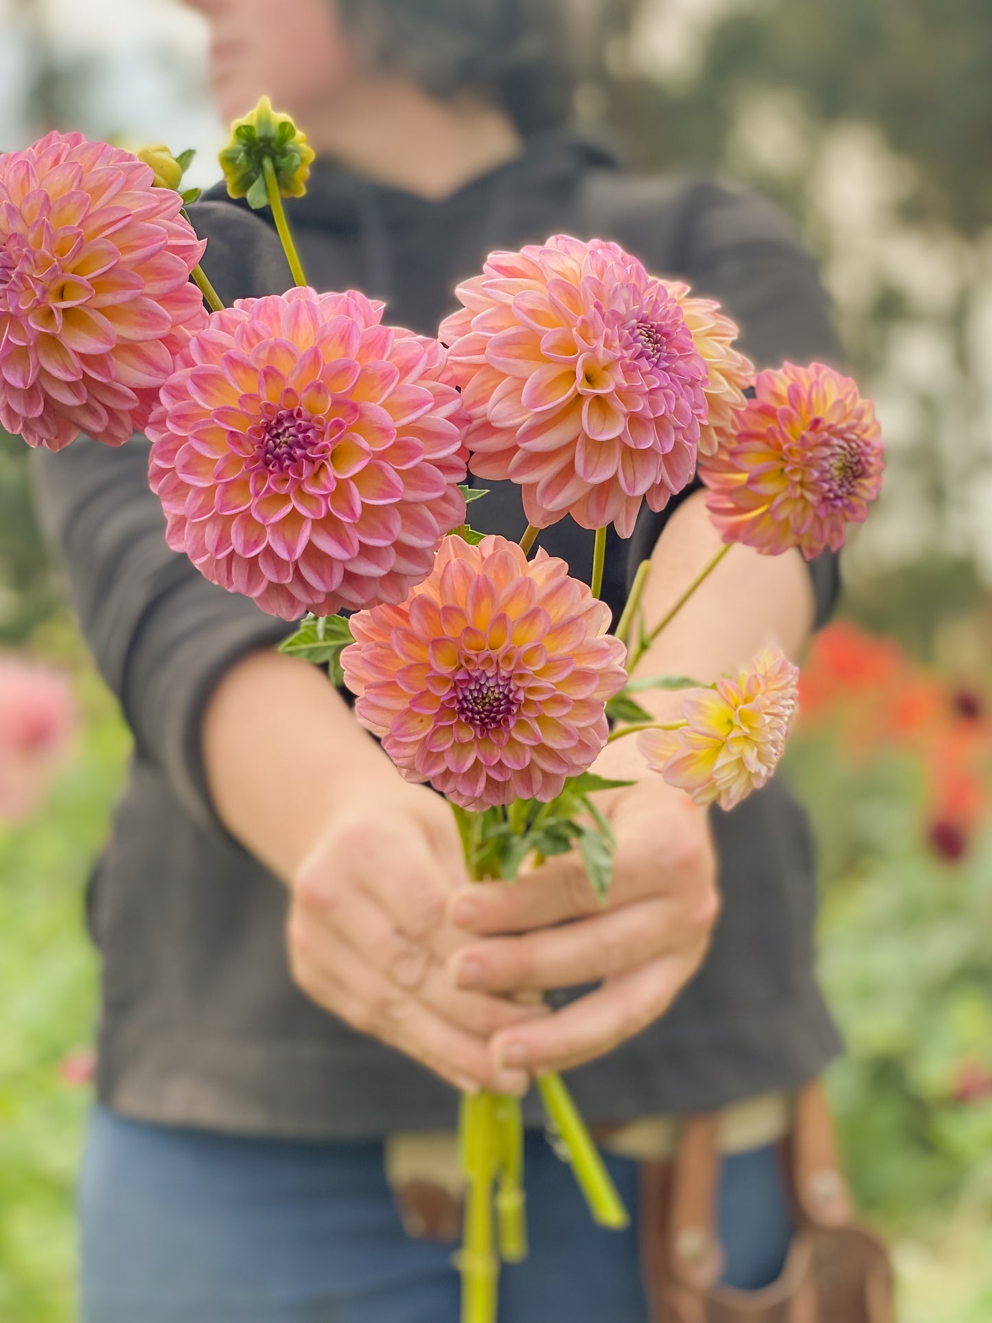
POLYGON ((447 902, 463 885, 443 799, 390 766, 353 782, 290 877, 292 976, 319 1005, 456 1088, 524 1093, 526 1072, 501 1066, 488 1044, 548 1012, 452 984, 443 962, 464 935, 447 902))

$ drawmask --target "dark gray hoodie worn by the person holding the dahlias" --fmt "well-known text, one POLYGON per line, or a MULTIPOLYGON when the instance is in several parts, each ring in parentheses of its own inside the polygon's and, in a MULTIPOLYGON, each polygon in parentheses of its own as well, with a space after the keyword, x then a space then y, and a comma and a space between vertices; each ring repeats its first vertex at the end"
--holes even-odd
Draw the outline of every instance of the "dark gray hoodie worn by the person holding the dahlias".
MULTIPOLYGON (((218 192, 192 210, 225 302, 288 286, 266 218, 218 192)), ((440 202, 317 163, 290 213, 316 287, 384 298, 388 320, 415 331, 436 333, 454 284, 489 249, 566 230, 615 238, 653 271, 718 298, 761 364, 836 357, 816 271, 774 208, 708 180, 632 179, 562 134, 532 140, 521 159, 440 202)), ((286 893, 214 816, 200 747, 206 700, 229 667, 275 644, 287 626, 169 552, 147 462, 143 438, 118 451, 81 439, 36 458, 44 521, 135 736, 89 905, 103 957, 99 1097, 145 1121, 259 1135, 448 1127, 447 1086, 296 990, 283 945, 286 893)), ((474 517, 511 537, 525 524, 511 484, 496 484, 474 517)), ((632 548, 610 542, 614 607, 664 519, 647 512, 632 548)), ((585 574, 591 537, 566 520, 542 545, 585 574)), ((836 565, 820 558, 811 573, 823 619, 836 565)), ((663 1020, 574 1072, 593 1122, 788 1088, 837 1049, 812 971, 803 812, 772 781, 734 812, 717 812, 714 828, 725 906, 706 963, 663 1020)))

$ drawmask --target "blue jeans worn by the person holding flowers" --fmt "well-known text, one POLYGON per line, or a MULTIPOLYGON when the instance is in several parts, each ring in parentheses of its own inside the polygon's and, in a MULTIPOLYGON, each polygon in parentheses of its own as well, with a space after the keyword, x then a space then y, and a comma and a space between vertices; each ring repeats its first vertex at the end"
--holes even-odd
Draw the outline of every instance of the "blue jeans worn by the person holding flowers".
MULTIPOLYGON (((636 1167, 608 1159, 628 1208, 636 1167)), ((526 1138, 530 1257, 504 1267, 500 1323, 645 1323, 636 1228, 593 1225, 571 1174, 526 1138)), ((81 1187, 85 1323, 456 1323, 452 1246, 410 1240, 382 1146, 238 1139, 95 1109, 81 1187)), ((729 1158, 727 1281, 784 1259, 771 1150, 729 1158)))

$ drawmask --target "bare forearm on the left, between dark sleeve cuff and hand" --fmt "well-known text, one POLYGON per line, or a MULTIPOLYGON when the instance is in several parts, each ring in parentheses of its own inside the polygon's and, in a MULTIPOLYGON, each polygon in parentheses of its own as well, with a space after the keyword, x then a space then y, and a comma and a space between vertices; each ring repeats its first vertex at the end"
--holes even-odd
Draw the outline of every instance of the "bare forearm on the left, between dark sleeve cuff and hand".
POLYGON ((217 685, 204 759, 218 816, 283 880, 336 808, 397 778, 327 676, 275 651, 250 654, 217 685))

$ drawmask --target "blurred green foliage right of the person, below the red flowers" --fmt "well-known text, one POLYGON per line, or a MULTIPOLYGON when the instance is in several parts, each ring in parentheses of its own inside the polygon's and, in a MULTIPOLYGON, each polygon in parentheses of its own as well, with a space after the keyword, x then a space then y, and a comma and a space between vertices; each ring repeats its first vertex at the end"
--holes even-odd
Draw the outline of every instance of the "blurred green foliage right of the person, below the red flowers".
MULTIPOLYGON (((821 849, 821 974, 848 1054, 831 1076, 862 1207, 906 1233, 992 1197, 992 833, 959 864, 923 835, 907 754, 794 741, 821 849)), ((991 1283, 992 1285, 992 1283, 991 1283)))

